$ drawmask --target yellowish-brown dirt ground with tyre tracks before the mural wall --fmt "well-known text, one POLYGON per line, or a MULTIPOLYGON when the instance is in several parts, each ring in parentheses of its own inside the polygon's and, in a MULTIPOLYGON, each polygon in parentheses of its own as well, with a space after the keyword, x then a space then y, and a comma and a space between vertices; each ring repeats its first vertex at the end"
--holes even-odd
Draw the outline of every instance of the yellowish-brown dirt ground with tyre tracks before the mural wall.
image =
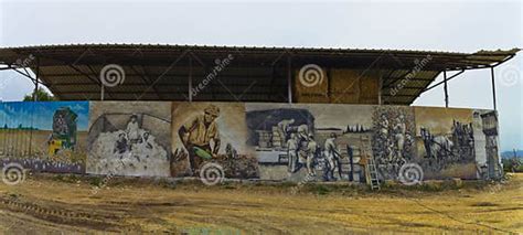
POLYGON ((523 233, 523 174, 439 189, 136 182, 44 175, 0 183, 0 233, 523 233), (297 193, 293 193, 297 192, 297 193))

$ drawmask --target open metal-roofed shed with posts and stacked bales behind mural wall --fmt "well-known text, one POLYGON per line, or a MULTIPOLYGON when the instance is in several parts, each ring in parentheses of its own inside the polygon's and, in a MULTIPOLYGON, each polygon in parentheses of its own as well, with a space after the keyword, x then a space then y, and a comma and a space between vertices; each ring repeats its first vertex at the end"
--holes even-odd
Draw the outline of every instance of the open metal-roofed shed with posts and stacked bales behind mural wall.
POLYGON ((46 86, 60 100, 410 105, 444 85, 448 106, 448 81, 467 70, 489 68, 495 109, 494 67, 517 51, 75 44, 0 49, 0 70, 29 77, 35 89, 46 86), (117 86, 100 81, 107 65, 121 68, 117 86), (306 65, 320 68, 314 87, 300 79, 306 65), (441 73, 444 81, 430 86, 441 73))

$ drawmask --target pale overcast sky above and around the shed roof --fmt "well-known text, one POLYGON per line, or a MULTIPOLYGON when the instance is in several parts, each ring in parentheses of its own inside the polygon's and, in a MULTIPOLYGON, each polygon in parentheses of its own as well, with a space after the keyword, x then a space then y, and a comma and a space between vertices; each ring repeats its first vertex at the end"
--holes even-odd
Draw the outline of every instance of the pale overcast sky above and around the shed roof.
MULTIPOLYGON (((0 2, 0 46, 169 43, 452 52, 523 47, 521 1, 0 2)), ((522 65, 523 52, 495 71, 502 150, 523 149, 522 65)), ((449 85, 451 107, 492 108, 489 70, 466 72, 449 85)), ((28 79, 0 72, 3 100, 20 100, 31 89, 28 79)), ((445 106, 442 87, 421 95, 415 105, 445 106)))

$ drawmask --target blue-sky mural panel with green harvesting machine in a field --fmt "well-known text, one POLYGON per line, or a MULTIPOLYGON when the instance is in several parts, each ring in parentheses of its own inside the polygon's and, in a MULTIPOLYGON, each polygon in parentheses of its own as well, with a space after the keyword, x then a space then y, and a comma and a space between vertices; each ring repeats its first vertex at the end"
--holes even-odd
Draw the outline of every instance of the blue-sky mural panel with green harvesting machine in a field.
POLYGON ((0 103, 1 164, 85 172, 88 102, 0 103))

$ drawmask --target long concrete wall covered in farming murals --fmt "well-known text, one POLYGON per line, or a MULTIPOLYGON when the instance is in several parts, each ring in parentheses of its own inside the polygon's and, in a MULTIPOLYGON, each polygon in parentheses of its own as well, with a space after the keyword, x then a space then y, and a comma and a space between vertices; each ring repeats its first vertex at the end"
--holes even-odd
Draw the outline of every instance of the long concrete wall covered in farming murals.
POLYGON ((1 103, 0 159, 136 177, 199 175, 214 162, 227 178, 365 182, 372 156, 382 180, 405 163, 425 179, 478 179, 501 171, 497 120, 492 110, 377 105, 1 103), (65 139, 72 128, 76 141, 65 139))

